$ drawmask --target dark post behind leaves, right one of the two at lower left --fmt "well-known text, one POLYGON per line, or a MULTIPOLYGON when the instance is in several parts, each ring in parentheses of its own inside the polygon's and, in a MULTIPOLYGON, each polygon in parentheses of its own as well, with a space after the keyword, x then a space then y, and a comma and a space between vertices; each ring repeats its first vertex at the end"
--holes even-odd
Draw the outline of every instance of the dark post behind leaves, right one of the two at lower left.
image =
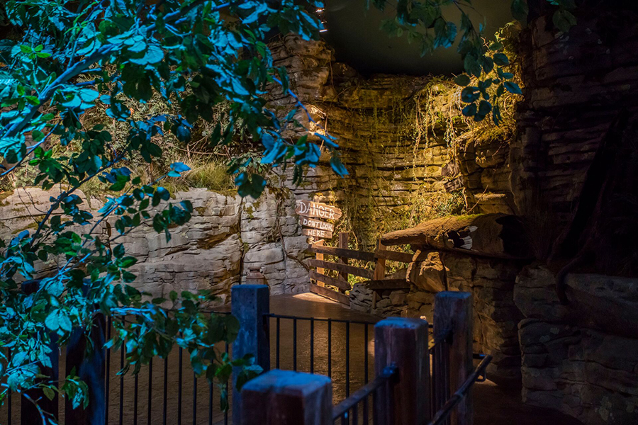
MULTIPOLYGON (((106 320, 103 314, 97 314, 91 327, 91 348, 87 351, 84 329, 74 329, 67 344, 66 373, 75 373, 89 386, 89 406, 73 408, 72 401, 65 399, 65 422, 67 424, 105 425, 106 394, 105 370, 106 342, 104 331, 106 320)), ((124 349, 124 348, 121 348, 124 349)))

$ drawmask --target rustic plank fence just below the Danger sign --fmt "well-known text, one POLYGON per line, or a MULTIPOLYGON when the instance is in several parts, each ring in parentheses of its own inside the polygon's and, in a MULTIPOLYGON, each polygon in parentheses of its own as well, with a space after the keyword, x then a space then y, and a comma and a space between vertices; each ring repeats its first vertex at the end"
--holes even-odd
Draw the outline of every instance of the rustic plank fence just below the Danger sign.
POLYGON ((315 253, 315 258, 308 260, 308 266, 315 268, 309 273, 310 279, 315 282, 310 284, 310 290, 342 304, 349 305, 350 303, 349 297, 345 295, 345 291, 350 289, 348 283, 350 274, 366 279, 362 283, 373 290, 373 308, 376 304, 377 291, 410 288, 405 276, 399 278, 386 276, 386 261, 410 263, 413 254, 388 251, 380 241, 377 242, 374 252, 348 249, 348 234, 341 232, 338 246, 325 246, 323 240, 320 240, 315 244, 309 244, 308 251, 315 253), (332 261, 326 256, 332 257, 332 261), (374 268, 352 266, 349 264, 350 259, 374 263, 374 268), (336 271, 338 274, 336 277, 328 276, 326 270, 336 271), (337 290, 325 288, 326 284, 337 288, 337 290))

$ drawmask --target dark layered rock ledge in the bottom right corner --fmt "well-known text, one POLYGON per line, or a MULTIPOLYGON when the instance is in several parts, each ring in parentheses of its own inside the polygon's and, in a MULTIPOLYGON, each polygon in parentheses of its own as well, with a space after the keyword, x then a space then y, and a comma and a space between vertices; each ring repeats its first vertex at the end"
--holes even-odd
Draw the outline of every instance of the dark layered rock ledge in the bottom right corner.
POLYGON ((638 414, 638 280, 573 274, 561 305, 554 274, 517 278, 522 395, 585 424, 631 424, 638 414))

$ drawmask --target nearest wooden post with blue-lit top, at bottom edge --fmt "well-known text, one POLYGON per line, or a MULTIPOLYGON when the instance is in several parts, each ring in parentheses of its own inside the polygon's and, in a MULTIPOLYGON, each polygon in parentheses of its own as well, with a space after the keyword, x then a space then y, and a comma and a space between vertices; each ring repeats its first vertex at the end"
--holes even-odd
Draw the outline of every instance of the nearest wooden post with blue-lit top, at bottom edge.
POLYGON ((271 370, 244 385, 242 410, 242 422, 233 424, 332 425, 332 382, 324 375, 271 370))

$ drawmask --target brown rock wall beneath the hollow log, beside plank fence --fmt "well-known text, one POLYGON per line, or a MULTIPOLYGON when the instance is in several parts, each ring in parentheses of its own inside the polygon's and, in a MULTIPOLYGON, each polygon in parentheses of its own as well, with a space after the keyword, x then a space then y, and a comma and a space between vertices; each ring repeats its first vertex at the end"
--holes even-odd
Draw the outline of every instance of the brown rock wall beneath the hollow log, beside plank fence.
POLYGON ((520 383, 518 322, 522 314, 514 303, 514 283, 522 264, 442 251, 423 251, 410 264, 410 290, 386 290, 372 307, 372 293, 355 285, 350 293, 354 310, 384 317, 434 317, 435 295, 442 290, 472 294, 474 352, 493 356, 490 379, 503 385, 520 383))

